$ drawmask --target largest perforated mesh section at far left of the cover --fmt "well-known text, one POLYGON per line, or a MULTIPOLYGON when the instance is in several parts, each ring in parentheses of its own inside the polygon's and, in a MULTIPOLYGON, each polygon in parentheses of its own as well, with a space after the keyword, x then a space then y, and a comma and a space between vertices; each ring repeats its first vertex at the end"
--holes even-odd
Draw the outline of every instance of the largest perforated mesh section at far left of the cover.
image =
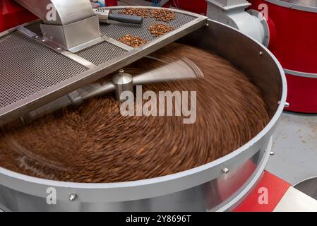
POLYGON ((87 70, 19 32, 2 37, 0 49, 0 108, 87 70))

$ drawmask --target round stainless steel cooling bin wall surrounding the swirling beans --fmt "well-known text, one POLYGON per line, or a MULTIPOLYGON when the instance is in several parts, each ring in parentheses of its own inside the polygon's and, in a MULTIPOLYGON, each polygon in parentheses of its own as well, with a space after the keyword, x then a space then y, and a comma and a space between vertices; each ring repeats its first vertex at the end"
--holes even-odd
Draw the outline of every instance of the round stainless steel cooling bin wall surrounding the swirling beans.
POLYGON ((229 155, 201 167, 135 182, 57 182, 0 168, 2 208, 14 211, 223 211, 239 205, 256 186, 268 162, 273 131, 286 102, 285 73, 262 44, 213 20, 178 42, 219 54, 258 86, 270 121, 256 137, 229 155), (47 204, 47 197, 55 191, 56 204, 47 204))

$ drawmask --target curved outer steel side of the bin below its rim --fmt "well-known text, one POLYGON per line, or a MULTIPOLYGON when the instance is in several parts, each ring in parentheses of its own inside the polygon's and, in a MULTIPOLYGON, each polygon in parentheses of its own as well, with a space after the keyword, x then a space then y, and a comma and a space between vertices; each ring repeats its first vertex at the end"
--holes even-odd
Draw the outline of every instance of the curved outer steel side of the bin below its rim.
MULTIPOLYGON (((232 169, 232 173, 222 175, 217 179, 206 182, 199 186, 194 186, 184 191, 178 191, 173 194, 144 198, 131 201, 108 201, 106 194, 97 194, 99 201, 92 199, 90 201, 82 200, 83 194, 78 195, 74 202, 61 198, 63 194, 57 190, 56 205, 48 205, 46 198, 42 196, 32 196, 20 191, 13 191, 6 186, 0 185, 0 200, 6 206, 6 209, 14 211, 210 211, 217 210, 223 206, 228 199, 237 196, 237 192, 241 192, 240 188, 244 186, 249 178, 263 169, 262 165, 266 161, 262 161, 264 150, 258 151, 253 157, 244 162, 243 165, 232 169), (61 198, 61 199, 60 199, 61 198)), ((268 152, 266 152, 268 154, 268 152)), ((261 175, 261 174, 260 174, 261 175)), ((258 178, 256 178, 258 179, 258 178)), ((43 196, 47 196, 46 189, 42 188, 43 196)), ((75 190, 70 190, 69 194, 75 190)), ((139 191, 142 193, 142 189, 139 191)), ((68 194, 68 196, 69 196, 68 194)))

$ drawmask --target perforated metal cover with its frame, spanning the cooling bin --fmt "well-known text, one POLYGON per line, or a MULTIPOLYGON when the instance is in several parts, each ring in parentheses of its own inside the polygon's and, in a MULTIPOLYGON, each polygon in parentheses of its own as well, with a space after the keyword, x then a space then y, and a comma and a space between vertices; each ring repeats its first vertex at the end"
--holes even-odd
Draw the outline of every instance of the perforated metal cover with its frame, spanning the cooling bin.
MULTIPOLYGON (((121 8, 124 7, 112 9, 118 13, 121 8)), ((101 32, 107 35, 104 42, 76 54, 17 30, 0 33, 0 126, 155 52, 201 28, 208 19, 173 11, 177 17, 169 25, 174 30, 166 35, 153 37, 150 34, 148 26, 157 22, 154 18, 146 18, 141 26, 112 21, 111 25, 101 25, 101 32), (143 37, 148 43, 132 49, 116 41, 128 33, 143 37)), ((41 35, 38 21, 25 28, 41 35)))

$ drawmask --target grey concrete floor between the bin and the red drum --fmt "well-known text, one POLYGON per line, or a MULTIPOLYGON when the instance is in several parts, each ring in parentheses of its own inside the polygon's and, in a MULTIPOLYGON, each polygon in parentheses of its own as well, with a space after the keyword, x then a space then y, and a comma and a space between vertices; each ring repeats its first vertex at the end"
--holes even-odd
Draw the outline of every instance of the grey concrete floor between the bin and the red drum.
POLYGON ((285 112, 273 138, 269 172, 292 185, 317 176, 317 114, 285 112))

